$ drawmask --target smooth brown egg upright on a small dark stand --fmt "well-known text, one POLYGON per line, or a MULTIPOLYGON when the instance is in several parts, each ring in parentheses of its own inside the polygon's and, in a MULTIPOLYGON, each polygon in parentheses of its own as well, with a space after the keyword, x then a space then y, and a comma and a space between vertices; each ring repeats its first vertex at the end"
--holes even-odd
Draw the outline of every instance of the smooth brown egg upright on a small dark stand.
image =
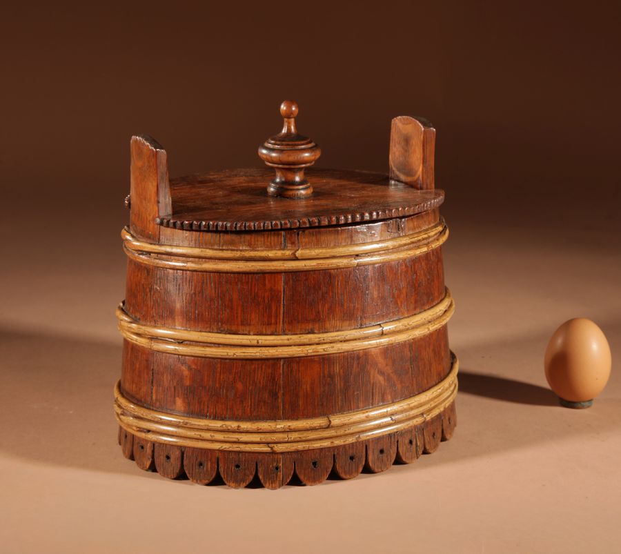
POLYGON ((610 346, 590 319, 569 319, 552 335, 544 365, 548 384, 561 404, 587 408, 608 382, 610 346))

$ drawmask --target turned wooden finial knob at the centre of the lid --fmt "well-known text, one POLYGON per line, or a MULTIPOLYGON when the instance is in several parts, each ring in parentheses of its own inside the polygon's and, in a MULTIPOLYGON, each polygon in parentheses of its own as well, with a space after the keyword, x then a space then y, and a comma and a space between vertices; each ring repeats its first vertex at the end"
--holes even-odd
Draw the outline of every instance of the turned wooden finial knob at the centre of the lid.
POLYGON ((259 157, 275 168, 276 177, 268 185, 268 195, 285 198, 307 198, 313 187, 304 177, 304 168, 312 166, 322 154, 308 137, 299 135, 295 127, 297 103, 285 100, 280 105, 284 119, 282 131, 259 146, 259 157))

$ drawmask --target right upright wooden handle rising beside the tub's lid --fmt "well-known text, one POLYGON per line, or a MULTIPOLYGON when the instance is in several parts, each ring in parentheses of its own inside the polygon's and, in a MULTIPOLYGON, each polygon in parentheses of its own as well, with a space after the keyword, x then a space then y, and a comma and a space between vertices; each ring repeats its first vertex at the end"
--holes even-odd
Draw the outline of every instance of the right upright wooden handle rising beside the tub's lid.
POLYGON ((390 177, 419 190, 433 190, 435 129, 426 119, 402 115, 391 124, 390 177))

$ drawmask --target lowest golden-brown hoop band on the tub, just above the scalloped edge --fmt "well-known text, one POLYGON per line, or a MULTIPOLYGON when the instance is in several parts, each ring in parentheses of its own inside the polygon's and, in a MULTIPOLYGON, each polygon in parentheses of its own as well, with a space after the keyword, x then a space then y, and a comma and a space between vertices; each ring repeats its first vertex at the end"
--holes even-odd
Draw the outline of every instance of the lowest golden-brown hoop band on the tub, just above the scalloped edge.
POLYGON ((364 410, 264 422, 183 417, 131 402, 115 387, 115 413, 121 427, 153 442, 220 451, 294 452, 339 446, 395 433, 444 411, 457 395, 457 358, 442 382, 423 393, 364 410))

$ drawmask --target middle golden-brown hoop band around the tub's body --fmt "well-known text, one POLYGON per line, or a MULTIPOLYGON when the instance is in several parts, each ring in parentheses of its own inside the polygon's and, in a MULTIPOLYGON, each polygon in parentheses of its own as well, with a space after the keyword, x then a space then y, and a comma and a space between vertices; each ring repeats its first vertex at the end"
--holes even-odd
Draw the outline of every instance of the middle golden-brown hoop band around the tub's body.
POLYGON ((119 330, 128 341, 156 352, 207 357, 270 359, 318 356, 377 348, 427 335, 445 325, 455 304, 449 289, 435 306, 386 323, 331 333, 304 335, 236 335, 139 323, 117 308, 119 330))

